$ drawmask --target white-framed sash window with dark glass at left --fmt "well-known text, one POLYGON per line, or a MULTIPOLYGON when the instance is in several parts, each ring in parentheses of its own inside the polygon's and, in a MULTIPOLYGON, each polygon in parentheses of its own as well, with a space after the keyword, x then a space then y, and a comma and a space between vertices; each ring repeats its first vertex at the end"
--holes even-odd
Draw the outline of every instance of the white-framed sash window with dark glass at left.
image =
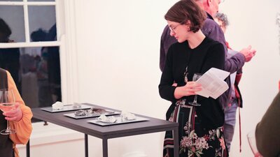
POLYGON ((0 0, 0 68, 29 107, 62 101, 59 12, 55 0, 0 0))

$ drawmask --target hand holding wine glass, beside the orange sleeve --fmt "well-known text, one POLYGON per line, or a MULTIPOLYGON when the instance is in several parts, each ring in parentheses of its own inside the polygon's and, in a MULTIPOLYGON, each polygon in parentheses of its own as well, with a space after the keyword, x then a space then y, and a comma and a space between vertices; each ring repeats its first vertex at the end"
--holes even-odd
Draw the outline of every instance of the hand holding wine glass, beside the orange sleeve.
POLYGON ((20 119, 22 119, 20 103, 15 103, 15 108, 13 110, 3 112, 3 115, 7 121, 20 121, 20 119))

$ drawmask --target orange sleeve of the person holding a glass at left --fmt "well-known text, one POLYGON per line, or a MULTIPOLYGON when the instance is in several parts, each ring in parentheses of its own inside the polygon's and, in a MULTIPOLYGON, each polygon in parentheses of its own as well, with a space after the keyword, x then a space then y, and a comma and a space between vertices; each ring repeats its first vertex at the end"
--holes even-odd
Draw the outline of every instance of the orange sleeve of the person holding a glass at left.
POLYGON ((10 121, 10 127, 17 131, 17 133, 10 135, 10 140, 12 140, 14 144, 27 144, 32 131, 31 118, 33 114, 31 109, 25 105, 25 102, 23 102, 22 97, 15 86, 13 77, 8 71, 6 72, 8 78, 8 89, 13 89, 15 102, 20 103, 20 108, 22 110, 22 119, 20 119, 20 121, 10 121))

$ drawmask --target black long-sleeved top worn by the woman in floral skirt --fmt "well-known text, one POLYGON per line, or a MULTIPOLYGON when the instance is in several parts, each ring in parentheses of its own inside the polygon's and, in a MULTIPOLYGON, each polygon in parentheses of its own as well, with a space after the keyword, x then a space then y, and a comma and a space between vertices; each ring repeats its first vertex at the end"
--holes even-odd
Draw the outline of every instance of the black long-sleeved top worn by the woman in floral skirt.
MULTIPOLYGON (((169 48, 159 91, 162 98, 172 101, 172 105, 176 103, 174 97, 176 87, 172 87, 172 84, 176 82, 179 87, 186 84, 183 76, 186 66, 188 66, 188 80, 192 80, 194 73, 205 73, 212 67, 223 70, 225 66, 223 45, 206 37, 194 49, 188 46, 188 41, 174 43, 169 48)), ((187 102, 193 101, 193 98, 194 96, 186 96, 187 102)), ((201 104, 197 107, 197 114, 202 117, 205 128, 223 126, 224 114, 218 98, 215 100, 198 96, 197 101, 201 104)))

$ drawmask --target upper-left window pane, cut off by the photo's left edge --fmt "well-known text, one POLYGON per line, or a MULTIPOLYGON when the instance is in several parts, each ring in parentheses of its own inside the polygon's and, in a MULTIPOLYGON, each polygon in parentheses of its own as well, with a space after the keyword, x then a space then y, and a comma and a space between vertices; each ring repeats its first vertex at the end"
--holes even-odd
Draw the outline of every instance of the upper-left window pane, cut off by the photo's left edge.
MULTIPOLYGON (((23 15, 23 6, 0 6, 0 18, 3 19, 2 22, 10 27, 10 36, 6 36, 9 40, 25 42, 25 20, 23 15)), ((5 33, 2 28, 0 33, 5 33)))

